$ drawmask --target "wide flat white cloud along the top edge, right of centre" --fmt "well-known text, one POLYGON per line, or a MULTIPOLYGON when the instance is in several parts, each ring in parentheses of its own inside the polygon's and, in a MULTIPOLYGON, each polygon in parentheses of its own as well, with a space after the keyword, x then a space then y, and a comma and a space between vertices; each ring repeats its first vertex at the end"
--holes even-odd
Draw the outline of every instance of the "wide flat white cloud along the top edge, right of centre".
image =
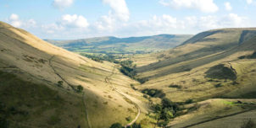
POLYGON ((203 13, 214 13, 219 10, 214 0, 159 0, 159 3, 171 8, 198 9, 203 13))

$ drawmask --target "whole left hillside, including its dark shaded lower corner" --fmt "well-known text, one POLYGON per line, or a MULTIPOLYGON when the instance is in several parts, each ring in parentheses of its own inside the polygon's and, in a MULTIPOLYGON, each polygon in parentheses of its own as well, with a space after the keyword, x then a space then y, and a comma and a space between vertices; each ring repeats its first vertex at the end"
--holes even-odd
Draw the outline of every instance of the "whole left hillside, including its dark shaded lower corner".
POLYGON ((140 105, 142 113, 147 112, 147 104, 142 94, 136 93, 130 87, 130 84, 136 81, 125 77, 112 63, 99 63, 65 51, 38 39, 23 29, 16 29, 3 22, 0 23, 0 39, 0 69, 3 72, 1 74, 9 75, 5 78, 1 77, 1 82, 6 84, 3 84, 0 90, 4 92, 8 88, 22 88, 15 93, 6 93, 5 98, 13 99, 14 103, 3 100, 3 97, 0 97, 1 102, 6 105, 6 109, 14 107, 28 112, 25 120, 22 120, 24 116, 19 113, 8 115, 6 119, 14 127, 21 124, 20 126, 31 125, 32 127, 81 125, 81 127, 101 128, 109 127, 115 122, 125 125, 127 124, 125 118, 131 116, 133 119, 137 109, 111 86, 124 93, 127 92, 134 99, 133 102, 140 105), (12 78, 15 76, 17 78, 12 78), (12 79, 24 84, 15 84, 12 79), (57 86, 59 81, 63 82, 62 87, 57 86), (25 86, 25 84, 28 85, 25 86), (84 95, 75 93, 78 85, 84 87, 84 95), (35 94, 28 93, 27 97, 30 99, 23 101, 17 97, 26 94, 24 91, 40 94, 33 98, 31 95, 35 94), (34 111, 36 108, 33 105, 24 106, 25 103, 35 104, 35 107, 40 106, 37 103, 37 97, 42 97, 41 109, 34 111), (53 106, 54 104, 56 106, 53 106), (63 109, 62 106, 66 107, 63 109), (58 109, 59 107, 62 109, 58 109), (37 118, 37 113, 41 116, 40 118, 37 118))

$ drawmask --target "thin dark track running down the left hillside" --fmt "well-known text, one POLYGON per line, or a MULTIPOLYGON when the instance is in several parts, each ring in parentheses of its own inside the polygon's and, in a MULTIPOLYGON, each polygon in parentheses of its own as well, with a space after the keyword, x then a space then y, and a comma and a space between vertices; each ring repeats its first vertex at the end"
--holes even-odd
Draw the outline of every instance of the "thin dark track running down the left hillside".
MULTIPOLYGON (((52 67, 53 72, 54 72, 62 81, 64 81, 64 83, 67 83, 67 84, 70 86, 70 88, 72 88, 72 89, 75 91, 74 86, 73 86, 72 84, 68 83, 68 82, 64 79, 64 77, 61 77, 61 75, 59 75, 58 72, 55 70, 55 68, 53 67, 53 63, 52 63, 53 58, 54 58, 54 56, 52 56, 52 57, 49 59, 49 66, 52 67)), ((84 105, 85 112, 86 112, 86 122, 87 122, 87 125, 88 125, 89 128, 93 128, 93 127, 92 127, 92 122, 89 120, 89 115, 88 115, 88 112, 87 112, 87 109, 86 109, 86 102, 85 102, 85 99, 86 99, 86 98, 85 98, 85 93, 83 93, 83 95, 82 95, 82 103, 83 103, 83 105, 84 105)))

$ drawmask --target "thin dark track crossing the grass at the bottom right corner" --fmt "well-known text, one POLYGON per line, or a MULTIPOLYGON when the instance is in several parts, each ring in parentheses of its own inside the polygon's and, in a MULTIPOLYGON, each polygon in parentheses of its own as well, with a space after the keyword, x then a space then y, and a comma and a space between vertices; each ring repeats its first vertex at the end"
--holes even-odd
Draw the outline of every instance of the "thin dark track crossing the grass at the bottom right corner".
MULTIPOLYGON (((226 118, 226 117, 230 117, 230 116, 234 116, 234 115, 240 115, 242 113, 246 113, 246 112, 249 112, 249 111, 253 111, 255 109, 247 109, 247 110, 244 110, 244 111, 241 111, 241 112, 237 112, 237 113, 234 113, 234 114, 231 114, 231 115, 223 115, 223 116, 217 116, 213 119, 210 119, 210 120, 203 120, 201 122, 198 122, 198 123, 195 123, 195 124, 191 124, 191 125, 186 125, 186 126, 183 126, 181 128, 189 128, 189 127, 192 127, 192 126, 195 126, 195 125, 201 125, 203 123, 207 123, 207 122, 210 122, 210 121, 214 121, 214 120, 219 120, 219 119, 222 119, 222 118, 226 118)), ((166 128, 170 128, 172 127, 172 125, 167 125, 165 126, 166 128)))

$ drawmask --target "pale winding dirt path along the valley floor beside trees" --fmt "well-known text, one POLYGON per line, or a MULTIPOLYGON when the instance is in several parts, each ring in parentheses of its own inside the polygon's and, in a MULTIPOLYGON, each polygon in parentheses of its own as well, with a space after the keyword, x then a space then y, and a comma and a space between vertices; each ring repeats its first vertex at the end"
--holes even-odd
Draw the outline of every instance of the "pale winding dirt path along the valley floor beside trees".
POLYGON ((136 104, 136 103, 133 102, 129 97, 127 97, 125 93, 120 92, 120 90, 118 90, 117 88, 115 88, 115 87, 114 87, 114 84, 111 83, 110 80, 111 80, 111 77, 114 75, 114 69, 116 69, 115 66, 114 66, 114 68, 113 68, 113 70, 112 70, 112 73, 111 73, 109 76, 105 77, 105 82, 110 84, 110 88, 112 88, 113 91, 115 91, 116 93, 120 93, 120 95, 122 95, 122 96, 125 97, 126 99, 129 99, 129 100, 131 101, 131 103, 134 104, 134 106, 135 106, 136 109, 137 109, 136 118, 135 118, 134 120, 132 120, 129 124, 125 125, 125 128, 126 128, 127 126, 133 125, 133 124, 136 122, 136 120, 138 120, 138 118, 139 118, 140 115, 141 115, 141 109, 140 109, 140 107, 139 107, 138 104, 136 104))

